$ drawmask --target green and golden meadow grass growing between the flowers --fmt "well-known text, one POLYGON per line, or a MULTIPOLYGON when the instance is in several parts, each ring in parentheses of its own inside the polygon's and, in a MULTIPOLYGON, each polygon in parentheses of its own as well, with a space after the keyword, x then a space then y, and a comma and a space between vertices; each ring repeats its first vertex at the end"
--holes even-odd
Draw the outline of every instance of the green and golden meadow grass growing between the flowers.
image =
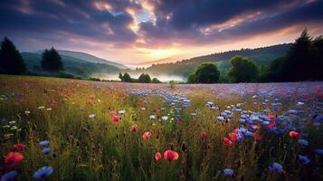
MULTIPOLYGON (((223 138, 239 127, 239 113, 228 121, 216 121, 220 110, 204 106, 213 100, 224 108, 246 102, 243 110, 261 111, 268 106, 254 105, 251 96, 217 98, 216 90, 207 87, 166 84, 132 84, 94 81, 76 81, 28 76, 0 76, 0 118, 15 121, 17 129, 0 128, 0 153, 5 156, 13 145, 24 143, 24 160, 14 167, 17 180, 33 180, 33 173, 43 166, 53 167, 48 180, 323 180, 323 158, 313 153, 323 148, 322 127, 313 127, 309 116, 302 117, 309 133, 309 147, 302 148, 288 135, 267 133, 261 129, 261 141, 248 138, 224 147, 223 138), (183 92, 192 101, 181 112, 182 121, 161 121, 169 114, 160 97, 129 96, 128 89, 168 89, 183 92), (42 108, 42 106, 44 108, 42 108), (165 107, 166 110, 161 110, 165 107), (145 111, 140 110, 146 108, 145 111), (111 111, 126 110, 121 120, 112 122, 111 111), (30 111, 30 113, 25 112, 30 111), (197 112, 197 117, 190 116, 197 112), (95 114, 95 119, 89 115, 95 114), (149 115, 159 119, 149 120, 149 115), (138 125, 138 131, 129 128, 138 125), (21 130, 20 130, 21 129, 21 130), (207 138, 201 138, 204 130, 207 138), (145 131, 152 137, 143 140, 145 131), (44 155, 38 143, 50 141, 52 153, 44 155), (155 160, 154 154, 166 149, 178 152, 179 158, 155 160), (298 154, 310 157, 309 165, 302 165, 298 154), (285 174, 271 173, 268 167, 280 163, 285 174), (223 176, 223 169, 233 168, 232 178, 223 176)), ((282 114, 295 102, 283 100, 284 109, 271 114, 282 114)), ((306 100, 304 115, 313 110, 317 97, 306 100)), ((268 107, 269 108, 269 107, 268 107)), ((272 110, 271 110, 272 111, 272 110)), ((321 113, 321 110, 318 110, 321 113)), ((5 124, 5 123, 4 123, 5 124)), ((297 124, 297 122, 295 122, 297 124)), ((3 160, 0 167, 3 166, 3 160)), ((9 170, 5 170, 9 171, 9 170)))

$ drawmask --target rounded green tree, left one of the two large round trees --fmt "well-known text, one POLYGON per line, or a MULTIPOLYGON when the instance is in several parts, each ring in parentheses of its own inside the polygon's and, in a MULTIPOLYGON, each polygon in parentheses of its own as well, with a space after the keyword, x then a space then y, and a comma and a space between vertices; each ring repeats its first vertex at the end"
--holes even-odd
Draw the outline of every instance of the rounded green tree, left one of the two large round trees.
POLYGON ((188 77, 190 83, 215 83, 220 78, 220 71, 217 70, 216 64, 204 62, 196 68, 188 77))

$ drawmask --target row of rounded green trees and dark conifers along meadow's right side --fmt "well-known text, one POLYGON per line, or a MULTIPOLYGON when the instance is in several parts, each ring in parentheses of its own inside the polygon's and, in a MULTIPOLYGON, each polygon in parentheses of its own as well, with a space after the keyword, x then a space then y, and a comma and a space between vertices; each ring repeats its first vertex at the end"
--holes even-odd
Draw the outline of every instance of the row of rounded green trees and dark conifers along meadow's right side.
POLYGON ((313 38, 305 29, 284 56, 259 68, 252 59, 234 56, 231 69, 221 75, 215 63, 204 62, 188 76, 188 83, 322 81, 323 37, 313 38))

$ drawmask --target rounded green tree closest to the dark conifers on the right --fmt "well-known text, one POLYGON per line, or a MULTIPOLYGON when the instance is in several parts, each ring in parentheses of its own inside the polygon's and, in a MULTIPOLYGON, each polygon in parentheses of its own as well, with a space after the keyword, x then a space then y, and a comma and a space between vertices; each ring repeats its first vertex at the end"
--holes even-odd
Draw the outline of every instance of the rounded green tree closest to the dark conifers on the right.
POLYGON ((257 65, 246 57, 234 56, 231 59, 232 68, 229 70, 228 75, 234 82, 251 82, 256 81, 258 78, 257 65))

